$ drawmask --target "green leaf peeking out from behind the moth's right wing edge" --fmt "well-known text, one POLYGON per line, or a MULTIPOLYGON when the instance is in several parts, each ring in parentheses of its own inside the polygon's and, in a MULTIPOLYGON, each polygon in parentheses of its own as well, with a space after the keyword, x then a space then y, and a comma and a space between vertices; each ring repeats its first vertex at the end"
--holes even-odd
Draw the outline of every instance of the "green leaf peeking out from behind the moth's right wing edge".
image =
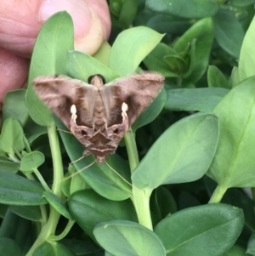
POLYGON ((138 128, 152 122, 162 111, 167 100, 167 92, 163 88, 155 100, 142 112, 139 118, 133 123, 132 129, 135 132, 138 128))

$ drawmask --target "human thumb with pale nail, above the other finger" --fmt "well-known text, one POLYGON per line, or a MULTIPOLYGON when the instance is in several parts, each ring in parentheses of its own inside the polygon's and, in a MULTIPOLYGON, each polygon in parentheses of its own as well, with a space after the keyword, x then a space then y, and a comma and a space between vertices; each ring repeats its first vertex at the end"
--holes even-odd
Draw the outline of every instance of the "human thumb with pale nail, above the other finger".
POLYGON ((94 54, 110 34, 105 0, 0 1, 0 47, 29 57, 38 32, 52 14, 66 10, 74 21, 76 48, 94 54))

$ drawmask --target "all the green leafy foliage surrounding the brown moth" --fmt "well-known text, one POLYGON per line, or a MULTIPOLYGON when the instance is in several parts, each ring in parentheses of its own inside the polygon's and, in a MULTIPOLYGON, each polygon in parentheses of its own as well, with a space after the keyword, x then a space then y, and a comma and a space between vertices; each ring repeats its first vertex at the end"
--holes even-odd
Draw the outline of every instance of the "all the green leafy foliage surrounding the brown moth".
POLYGON ((240 189, 255 195, 254 3, 111 0, 111 38, 94 56, 74 50, 69 14, 50 17, 28 88, 3 102, 0 255, 255 255, 255 204, 240 189), (142 69, 165 88, 101 165, 80 159, 32 88, 142 69))

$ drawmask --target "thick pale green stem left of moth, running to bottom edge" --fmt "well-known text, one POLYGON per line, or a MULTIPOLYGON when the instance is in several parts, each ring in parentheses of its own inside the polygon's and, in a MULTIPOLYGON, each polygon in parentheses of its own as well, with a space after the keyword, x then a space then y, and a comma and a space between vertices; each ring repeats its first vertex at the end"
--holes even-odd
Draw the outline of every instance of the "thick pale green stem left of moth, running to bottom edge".
MULTIPOLYGON (((55 195, 63 198, 63 194, 60 188, 60 182, 64 178, 64 173, 59 149, 59 137, 54 122, 52 122, 51 125, 48 127, 48 139, 54 166, 54 183, 52 186, 52 191, 55 195)), ((42 226, 41 233, 37 237, 36 242, 34 242, 33 246, 30 248, 26 256, 31 256, 37 249, 37 247, 39 247, 43 242, 48 240, 49 236, 54 235, 59 222, 59 217, 60 214, 52 206, 50 206, 48 222, 46 225, 42 226)))

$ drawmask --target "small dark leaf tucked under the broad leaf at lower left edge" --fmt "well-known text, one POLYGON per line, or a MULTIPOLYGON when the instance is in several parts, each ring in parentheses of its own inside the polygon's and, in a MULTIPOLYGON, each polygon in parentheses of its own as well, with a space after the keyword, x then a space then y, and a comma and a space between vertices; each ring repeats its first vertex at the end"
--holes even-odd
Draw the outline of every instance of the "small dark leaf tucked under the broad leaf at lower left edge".
POLYGON ((18 216, 32 221, 41 221, 41 211, 37 206, 10 205, 10 210, 18 216))

